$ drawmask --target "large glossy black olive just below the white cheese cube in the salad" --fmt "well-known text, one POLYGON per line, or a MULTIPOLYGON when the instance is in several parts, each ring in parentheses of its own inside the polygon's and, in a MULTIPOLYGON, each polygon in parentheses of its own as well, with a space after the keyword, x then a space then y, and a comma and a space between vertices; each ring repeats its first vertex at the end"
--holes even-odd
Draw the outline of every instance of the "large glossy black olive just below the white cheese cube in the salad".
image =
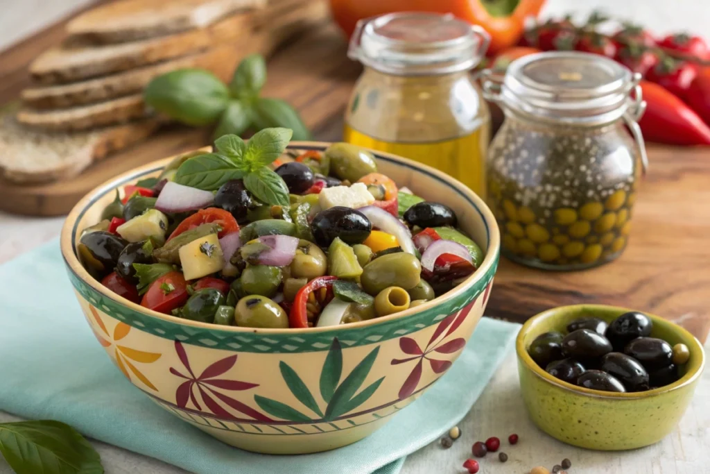
POLYGON ((311 222, 315 242, 328 247, 335 237, 346 244, 360 244, 372 230, 370 220, 359 210, 335 206, 318 212, 311 222))

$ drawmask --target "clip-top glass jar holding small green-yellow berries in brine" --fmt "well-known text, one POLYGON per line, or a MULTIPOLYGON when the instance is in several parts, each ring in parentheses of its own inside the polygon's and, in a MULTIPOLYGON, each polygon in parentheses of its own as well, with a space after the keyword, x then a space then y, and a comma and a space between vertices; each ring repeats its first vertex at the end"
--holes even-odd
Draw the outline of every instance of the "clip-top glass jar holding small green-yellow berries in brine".
POLYGON ((486 174, 503 254, 559 270, 616 259, 647 166, 640 75, 601 55, 555 52, 515 60, 502 80, 484 76, 484 95, 506 115, 486 174))

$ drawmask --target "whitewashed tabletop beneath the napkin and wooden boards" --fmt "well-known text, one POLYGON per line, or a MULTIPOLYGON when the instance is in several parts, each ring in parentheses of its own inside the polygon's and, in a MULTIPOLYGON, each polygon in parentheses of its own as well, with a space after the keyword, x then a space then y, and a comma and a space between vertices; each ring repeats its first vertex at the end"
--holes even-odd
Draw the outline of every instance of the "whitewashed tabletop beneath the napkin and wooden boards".
MULTIPOLYGON (((0 0, 0 49, 89 2, 0 0)), ((545 15, 559 16, 573 11, 584 17, 594 8, 642 23, 656 33, 681 30, 704 33, 710 19, 710 2, 698 0, 549 0, 545 15)), ((33 219, 0 212, 0 263, 52 239, 61 225, 61 218, 33 219)), ((710 350, 710 344, 706 350, 710 350)), ((14 419, 0 412, 0 422, 14 419)), ((636 451, 585 451, 559 443, 537 430, 525 414, 513 352, 459 426, 463 436, 452 448, 444 450, 438 443, 427 446, 408 457, 403 474, 463 473, 461 464, 470 456, 471 444, 489 436, 501 438, 501 451, 508 453, 509 459, 503 464, 496 456, 488 456, 481 461, 481 474, 523 474, 535 465, 552 468, 562 458, 572 460, 570 473, 710 474, 710 370, 702 377, 692 405, 677 429, 655 446, 636 451), (513 432, 518 433, 520 442, 508 446, 507 437, 513 432)), ((185 472, 104 443, 94 445, 108 474, 185 472)), ((0 458, 0 474, 6 473, 11 470, 0 458)))

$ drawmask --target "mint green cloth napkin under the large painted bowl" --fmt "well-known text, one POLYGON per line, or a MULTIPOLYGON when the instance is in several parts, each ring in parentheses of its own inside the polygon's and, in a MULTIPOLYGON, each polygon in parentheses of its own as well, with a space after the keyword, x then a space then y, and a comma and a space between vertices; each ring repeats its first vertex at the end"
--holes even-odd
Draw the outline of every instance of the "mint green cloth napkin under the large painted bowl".
POLYGON ((459 360, 372 436, 326 453, 266 456, 217 441, 153 404, 109 361, 82 317, 58 243, 0 266, 0 409, 195 473, 397 474, 466 415, 519 325, 483 318, 459 360))

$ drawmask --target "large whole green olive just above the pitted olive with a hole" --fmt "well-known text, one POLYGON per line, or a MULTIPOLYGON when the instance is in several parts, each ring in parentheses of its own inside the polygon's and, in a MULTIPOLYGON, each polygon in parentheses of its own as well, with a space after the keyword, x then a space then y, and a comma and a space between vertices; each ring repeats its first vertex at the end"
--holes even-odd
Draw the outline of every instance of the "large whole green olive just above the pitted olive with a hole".
POLYGON ((413 254, 398 252, 374 259, 365 265, 360 281, 365 291, 376 296, 388 286, 414 288, 421 281, 422 264, 413 254))

